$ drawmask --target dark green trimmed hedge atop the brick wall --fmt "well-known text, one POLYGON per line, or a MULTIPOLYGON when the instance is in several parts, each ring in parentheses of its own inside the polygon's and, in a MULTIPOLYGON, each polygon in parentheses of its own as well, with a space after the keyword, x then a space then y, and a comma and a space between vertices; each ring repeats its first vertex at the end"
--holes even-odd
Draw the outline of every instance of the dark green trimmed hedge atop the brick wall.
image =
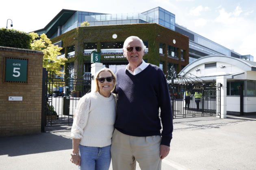
POLYGON ((0 46, 20 49, 31 49, 32 37, 26 33, 14 29, 0 29, 0 46))

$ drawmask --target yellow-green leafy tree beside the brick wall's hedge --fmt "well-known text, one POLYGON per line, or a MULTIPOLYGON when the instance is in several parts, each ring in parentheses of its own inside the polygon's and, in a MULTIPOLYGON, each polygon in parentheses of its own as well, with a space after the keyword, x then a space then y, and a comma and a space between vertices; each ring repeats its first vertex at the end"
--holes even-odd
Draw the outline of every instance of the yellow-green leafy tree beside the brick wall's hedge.
POLYGON ((43 67, 48 71, 54 71, 58 76, 62 76, 65 72, 61 72, 61 65, 65 64, 67 58, 57 57, 61 55, 62 47, 53 45, 51 40, 47 38, 46 34, 41 34, 30 32, 32 36, 31 49, 43 51, 43 67), (40 37, 40 38, 39 38, 40 37))

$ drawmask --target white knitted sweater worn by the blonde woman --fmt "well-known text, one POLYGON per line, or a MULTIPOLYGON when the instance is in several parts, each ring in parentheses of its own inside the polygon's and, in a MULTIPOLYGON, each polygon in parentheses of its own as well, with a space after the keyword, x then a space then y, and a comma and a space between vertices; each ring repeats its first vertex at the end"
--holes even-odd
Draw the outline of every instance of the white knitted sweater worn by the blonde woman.
POLYGON ((106 147, 111 144, 115 123, 113 94, 105 98, 99 92, 83 96, 76 107, 71 136, 81 139, 87 147, 106 147))

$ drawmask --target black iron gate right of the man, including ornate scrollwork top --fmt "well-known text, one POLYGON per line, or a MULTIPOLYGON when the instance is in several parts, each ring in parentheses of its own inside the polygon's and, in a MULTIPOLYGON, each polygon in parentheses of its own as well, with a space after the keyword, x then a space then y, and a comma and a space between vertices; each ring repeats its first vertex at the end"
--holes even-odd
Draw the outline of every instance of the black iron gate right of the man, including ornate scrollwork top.
POLYGON ((205 82, 199 77, 190 74, 190 77, 178 75, 174 67, 167 72, 167 82, 171 96, 173 118, 190 117, 221 117, 221 84, 214 81, 205 82), (187 92, 186 92, 187 91, 187 92))

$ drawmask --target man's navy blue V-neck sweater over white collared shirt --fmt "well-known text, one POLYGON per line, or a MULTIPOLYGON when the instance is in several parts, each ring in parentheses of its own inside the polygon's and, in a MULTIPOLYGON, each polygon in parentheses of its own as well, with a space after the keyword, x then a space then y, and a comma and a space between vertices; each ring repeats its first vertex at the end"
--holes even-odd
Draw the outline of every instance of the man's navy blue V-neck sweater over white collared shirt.
POLYGON ((142 72, 130 74, 126 68, 116 73, 117 120, 115 128, 130 136, 162 136, 170 146, 173 122, 169 89, 163 71, 149 64, 142 72), (158 109, 161 108, 161 122, 158 109))

